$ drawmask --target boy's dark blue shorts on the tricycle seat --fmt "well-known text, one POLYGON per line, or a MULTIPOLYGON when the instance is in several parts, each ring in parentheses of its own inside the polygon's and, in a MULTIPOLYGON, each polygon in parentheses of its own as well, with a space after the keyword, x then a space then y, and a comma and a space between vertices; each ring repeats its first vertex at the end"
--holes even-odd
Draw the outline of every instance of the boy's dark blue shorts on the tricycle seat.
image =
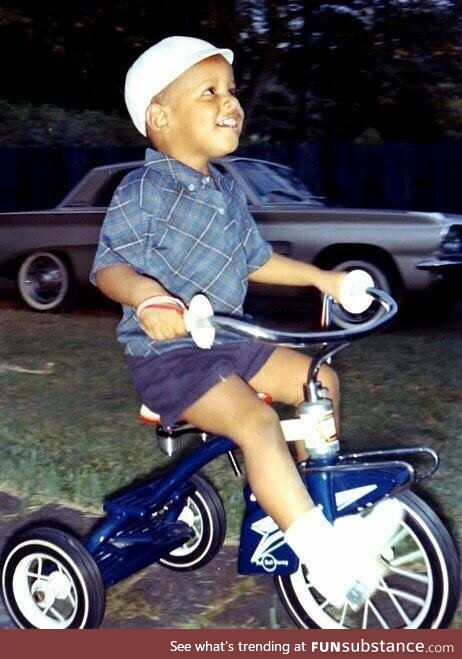
POLYGON ((129 357, 130 375, 141 401, 171 426, 185 409, 232 373, 248 382, 275 346, 235 341, 201 348, 178 348, 163 355, 129 357))

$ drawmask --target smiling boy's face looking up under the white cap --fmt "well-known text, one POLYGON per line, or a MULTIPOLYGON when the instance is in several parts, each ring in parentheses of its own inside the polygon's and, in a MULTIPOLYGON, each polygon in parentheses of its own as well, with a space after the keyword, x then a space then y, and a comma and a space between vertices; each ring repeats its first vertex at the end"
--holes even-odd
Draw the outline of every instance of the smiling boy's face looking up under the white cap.
POLYGON ((244 112, 233 69, 221 55, 185 71, 161 94, 168 130, 161 150, 206 174, 211 158, 237 149, 244 112))

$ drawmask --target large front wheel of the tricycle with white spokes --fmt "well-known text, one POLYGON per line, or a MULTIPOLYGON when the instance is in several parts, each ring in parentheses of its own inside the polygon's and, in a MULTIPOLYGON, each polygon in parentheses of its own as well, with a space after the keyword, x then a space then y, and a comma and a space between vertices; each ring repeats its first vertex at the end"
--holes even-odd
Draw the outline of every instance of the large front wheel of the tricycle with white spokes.
POLYGON ((302 566, 294 574, 275 578, 279 596, 298 627, 439 629, 450 624, 460 589, 454 543, 441 520, 418 496, 406 492, 396 498, 405 516, 390 545, 391 556, 383 556, 387 573, 382 586, 358 612, 326 606, 302 566))

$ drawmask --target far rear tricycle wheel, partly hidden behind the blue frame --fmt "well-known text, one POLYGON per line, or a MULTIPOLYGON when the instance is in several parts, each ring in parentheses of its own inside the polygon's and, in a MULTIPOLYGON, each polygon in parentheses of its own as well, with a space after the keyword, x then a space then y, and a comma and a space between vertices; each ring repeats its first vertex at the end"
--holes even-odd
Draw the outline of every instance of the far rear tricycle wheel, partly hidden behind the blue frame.
POLYGON ((194 529, 194 537, 159 562, 171 570, 196 570, 209 563, 220 550, 226 534, 226 514, 216 490, 201 476, 190 482, 196 490, 188 497, 179 519, 194 529))

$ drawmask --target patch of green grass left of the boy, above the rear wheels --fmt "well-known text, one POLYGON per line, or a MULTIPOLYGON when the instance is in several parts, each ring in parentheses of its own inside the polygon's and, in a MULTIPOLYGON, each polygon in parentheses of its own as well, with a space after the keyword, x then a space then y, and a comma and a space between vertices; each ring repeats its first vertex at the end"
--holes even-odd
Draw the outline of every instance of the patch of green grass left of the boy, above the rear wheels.
MULTIPOLYGON (((107 494, 167 463, 152 429, 138 421, 114 330, 107 316, 2 312, 0 484, 27 504, 99 508, 107 494), (50 375, 8 369, 48 362, 50 375)), ((222 480, 232 501, 230 470, 222 480)))

